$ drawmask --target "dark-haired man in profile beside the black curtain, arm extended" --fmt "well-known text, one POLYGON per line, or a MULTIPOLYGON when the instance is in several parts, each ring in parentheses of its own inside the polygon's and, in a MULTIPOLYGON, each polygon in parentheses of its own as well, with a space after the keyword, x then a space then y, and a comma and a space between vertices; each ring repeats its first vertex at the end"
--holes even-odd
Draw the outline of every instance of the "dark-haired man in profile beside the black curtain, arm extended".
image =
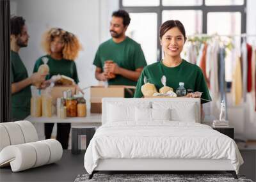
POLYGON ((45 75, 33 73, 28 77, 28 72, 19 56, 21 47, 28 46, 29 35, 25 20, 22 17, 11 19, 11 84, 12 84, 12 121, 25 119, 30 113, 31 84, 42 82, 45 75))

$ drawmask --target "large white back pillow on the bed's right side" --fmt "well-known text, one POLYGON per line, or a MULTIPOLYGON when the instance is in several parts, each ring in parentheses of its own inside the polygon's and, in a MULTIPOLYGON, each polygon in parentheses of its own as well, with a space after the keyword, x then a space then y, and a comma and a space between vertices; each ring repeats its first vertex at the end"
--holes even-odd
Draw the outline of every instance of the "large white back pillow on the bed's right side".
POLYGON ((171 109, 172 121, 196 122, 195 102, 152 102, 153 109, 171 109))

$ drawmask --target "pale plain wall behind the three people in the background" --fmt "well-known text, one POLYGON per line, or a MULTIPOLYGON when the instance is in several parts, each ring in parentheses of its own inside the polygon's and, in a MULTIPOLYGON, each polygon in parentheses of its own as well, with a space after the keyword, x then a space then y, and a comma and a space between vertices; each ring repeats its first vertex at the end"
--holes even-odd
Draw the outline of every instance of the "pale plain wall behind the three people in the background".
MULTIPOLYGON (((45 54, 40 47, 42 34, 51 27, 61 27, 76 34, 83 45, 76 60, 79 86, 98 83, 93 58, 99 44, 110 38, 109 20, 118 9, 118 0, 11 0, 11 6, 12 13, 24 17, 28 26, 29 45, 20 49, 20 57, 29 75, 36 59, 45 54)), ((85 97, 89 99, 89 91, 85 97)))

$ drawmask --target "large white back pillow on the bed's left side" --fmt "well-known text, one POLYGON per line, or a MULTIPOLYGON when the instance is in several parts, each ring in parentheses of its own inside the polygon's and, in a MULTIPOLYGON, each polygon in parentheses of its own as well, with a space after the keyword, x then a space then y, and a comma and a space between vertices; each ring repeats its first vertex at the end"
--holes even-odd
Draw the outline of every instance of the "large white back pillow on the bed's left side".
POLYGON ((109 102, 107 107, 107 122, 135 121, 135 107, 148 109, 150 102, 109 102))

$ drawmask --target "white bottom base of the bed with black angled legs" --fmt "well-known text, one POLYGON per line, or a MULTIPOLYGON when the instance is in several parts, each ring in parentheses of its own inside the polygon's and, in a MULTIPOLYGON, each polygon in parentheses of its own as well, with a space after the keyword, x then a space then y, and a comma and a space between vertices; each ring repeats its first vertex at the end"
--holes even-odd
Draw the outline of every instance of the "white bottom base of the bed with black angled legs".
POLYGON ((150 173, 168 173, 170 171, 226 171, 231 173, 237 179, 236 171, 231 165, 230 160, 210 160, 210 159, 117 159, 109 158, 99 160, 95 170, 90 174, 89 179, 93 178, 93 174, 100 171, 148 171, 150 173))

